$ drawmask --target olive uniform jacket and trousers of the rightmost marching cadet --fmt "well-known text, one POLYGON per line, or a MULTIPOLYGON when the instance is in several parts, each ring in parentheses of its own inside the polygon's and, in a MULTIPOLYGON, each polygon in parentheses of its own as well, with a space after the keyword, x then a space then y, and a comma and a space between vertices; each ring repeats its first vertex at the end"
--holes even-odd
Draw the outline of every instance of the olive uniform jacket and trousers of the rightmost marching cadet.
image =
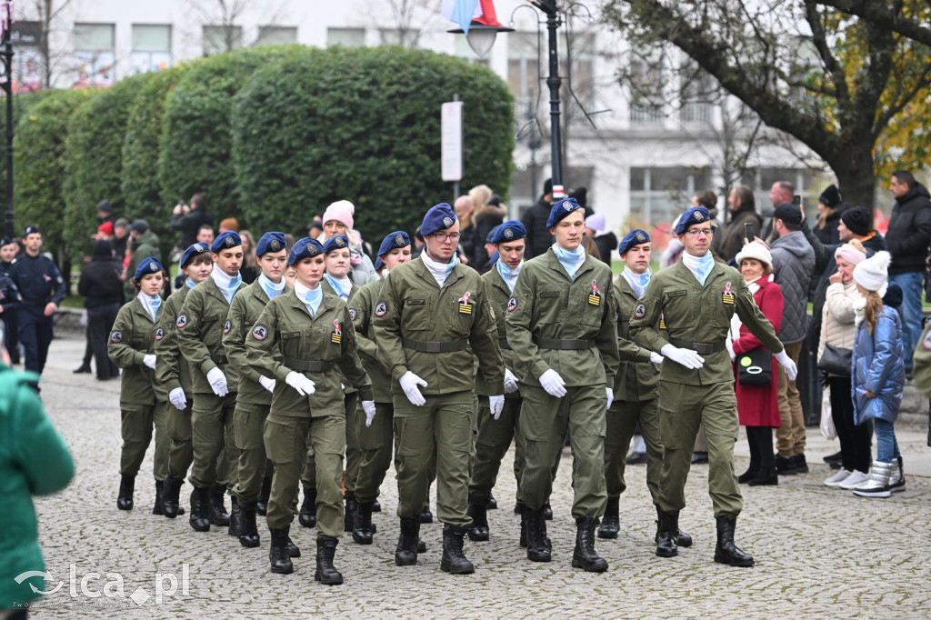
POLYGON ((657 353, 672 344, 705 359, 696 370, 670 359, 660 367, 659 428, 664 450, 657 504, 666 513, 685 507, 685 479, 699 424, 708 436, 708 492, 715 517, 733 519, 743 507, 734 473, 738 429, 734 369, 724 344, 735 311, 763 346, 773 353, 782 351, 744 278, 722 263, 714 263, 705 286, 681 262, 654 274, 630 319, 637 344, 657 353), (658 329, 661 318, 667 334, 658 329))

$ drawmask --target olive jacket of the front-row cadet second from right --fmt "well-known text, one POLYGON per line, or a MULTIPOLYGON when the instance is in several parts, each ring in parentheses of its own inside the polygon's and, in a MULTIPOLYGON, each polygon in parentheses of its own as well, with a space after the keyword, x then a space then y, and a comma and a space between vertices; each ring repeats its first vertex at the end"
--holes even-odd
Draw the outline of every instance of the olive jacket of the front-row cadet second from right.
MULTIPOLYGON (((614 385, 619 341, 611 277, 611 268, 590 255, 574 279, 552 249, 524 263, 505 319, 507 342, 517 360, 511 371, 522 383, 539 386, 540 375, 552 369, 570 387, 614 385), (534 338, 589 340, 595 346, 569 351, 540 348, 534 338)), ((624 349, 628 357, 640 355, 633 344, 626 343, 624 349)))

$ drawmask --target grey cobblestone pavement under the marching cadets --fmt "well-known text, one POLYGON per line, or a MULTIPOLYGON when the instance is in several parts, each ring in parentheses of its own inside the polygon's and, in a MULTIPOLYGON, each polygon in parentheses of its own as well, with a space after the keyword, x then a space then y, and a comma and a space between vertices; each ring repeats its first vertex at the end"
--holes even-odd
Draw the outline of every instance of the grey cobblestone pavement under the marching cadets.
MULTIPOLYGON (((778 487, 742 487, 746 506, 736 540, 755 556, 752 569, 712 561, 715 530, 707 465, 693 468, 689 505, 680 520, 695 546, 681 550, 675 559, 654 555, 655 513, 645 469, 633 466, 621 502, 622 533, 596 546, 609 561, 609 571, 587 574, 573 569, 572 459, 567 457, 552 498, 551 563, 529 562, 518 546, 519 519, 512 512, 515 485, 505 476, 495 489, 501 507, 489 513, 492 540, 466 543, 475 574, 439 571, 437 523, 422 530, 429 550, 420 563, 394 566, 397 487, 389 474, 381 498, 384 512, 374 517, 374 544, 358 546, 344 534, 337 548, 335 563, 344 574, 344 586, 314 582, 316 532, 301 528, 296 519, 291 535, 304 556, 295 560, 295 573, 275 575, 268 572, 262 518, 263 545, 244 549, 224 529, 196 533, 184 517, 169 520, 150 514, 155 494, 151 450, 137 478, 135 509, 116 509, 119 384, 72 374, 83 348, 77 339, 56 340, 42 380, 42 397, 74 454, 77 473, 64 492, 36 501, 40 539, 53 577, 47 590, 64 584, 34 605, 35 617, 931 615, 931 479, 910 476, 906 492, 887 500, 862 499, 823 486, 828 475, 824 465, 813 465, 807 475, 781 478, 778 487), (106 573, 120 573, 124 596, 115 590, 109 592, 115 596, 100 596, 107 582, 116 581, 106 573), (156 573, 162 575, 160 580, 156 573), (171 591, 169 573, 182 581, 187 574, 186 591, 181 586, 171 591), (82 591, 82 578, 96 598, 82 591), (156 582, 163 591, 157 598, 156 582)), ((510 471, 510 459, 508 454, 503 471, 510 471)), ((746 459, 738 458, 736 465, 741 470, 746 459)), ((190 486, 184 489, 189 492, 190 486)), ((186 505, 186 493, 182 498, 186 505)))

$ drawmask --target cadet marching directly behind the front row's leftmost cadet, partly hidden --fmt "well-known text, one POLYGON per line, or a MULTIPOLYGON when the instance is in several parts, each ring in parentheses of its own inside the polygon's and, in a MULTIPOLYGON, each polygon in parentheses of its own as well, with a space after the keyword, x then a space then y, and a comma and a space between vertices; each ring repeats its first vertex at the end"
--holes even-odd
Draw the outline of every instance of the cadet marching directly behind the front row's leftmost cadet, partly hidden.
MULTIPOLYGON (((236 522, 234 509, 230 515, 230 532, 235 532, 239 536, 239 544, 245 547, 260 544, 255 514, 263 490, 267 462, 262 433, 272 404, 271 393, 275 390, 275 379, 256 372, 247 362, 246 338, 265 305, 284 292, 283 276, 285 263, 288 262, 285 247, 284 233, 265 233, 259 239, 255 255, 259 259, 262 273, 233 297, 226 318, 229 329, 223 328, 226 357, 239 375, 236 411, 233 413, 239 460, 232 495, 239 506, 241 519, 236 522)), ((267 473, 271 474, 270 471, 267 473)))

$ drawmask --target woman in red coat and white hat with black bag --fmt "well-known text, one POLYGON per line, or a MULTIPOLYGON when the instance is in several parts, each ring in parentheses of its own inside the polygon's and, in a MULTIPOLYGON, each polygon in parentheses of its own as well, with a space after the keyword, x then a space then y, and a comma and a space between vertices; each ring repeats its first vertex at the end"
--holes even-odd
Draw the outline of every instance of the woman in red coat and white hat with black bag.
MULTIPOLYGON (((740 274, 744 276, 753 301, 762 314, 773 324, 776 333, 782 324, 782 290, 772 281, 773 257, 762 243, 753 242, 744 246, 736 255, 740 274)), ((728 350, 731 360, 754 349, 762 349, 762 343, 756 336, 740 324, 734 315, 728 336, 728 350)), ((737 396, 737 415, 740 424, 747 427, 747 440, 750 447, 749 469, 737 480, 749 482, 750 486, 778 484, 776 475, 776 457, 773 453, 773 428, 780 425, 779 404, 777 402, 778 384, 776 382, 776 360, 769 357, 773 372, 773 382, 768 385, 742 385, 737 378, 737 365, 734 365, 735 390, 737 396)))

